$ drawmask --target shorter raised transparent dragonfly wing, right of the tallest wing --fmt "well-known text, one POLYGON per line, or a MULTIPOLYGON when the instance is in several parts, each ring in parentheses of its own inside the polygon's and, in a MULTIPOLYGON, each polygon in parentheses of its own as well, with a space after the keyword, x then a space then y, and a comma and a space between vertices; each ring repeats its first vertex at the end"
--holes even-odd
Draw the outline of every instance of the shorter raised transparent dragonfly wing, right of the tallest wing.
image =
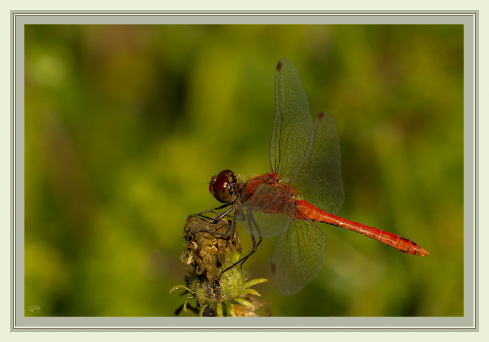
POLYGON ((345 199, 338 129, 330 114, 320 113, 313 130, 311 155, 304 163, 304 177, 294 191, 316 208, 336 214, 345 199))

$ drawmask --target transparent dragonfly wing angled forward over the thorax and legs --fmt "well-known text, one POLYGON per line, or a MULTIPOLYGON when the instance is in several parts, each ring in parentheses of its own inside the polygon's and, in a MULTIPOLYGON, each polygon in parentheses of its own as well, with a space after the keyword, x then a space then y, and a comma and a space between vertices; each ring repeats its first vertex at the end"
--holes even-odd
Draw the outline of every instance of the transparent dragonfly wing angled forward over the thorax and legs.
POLYGON ((295 205, 290 192, 279 186, 260 185, 253 195, 237 208, 237 216, 241 226, 250 232, 246 213, 252 214, 252 225, 255 236, 273 237, 286 232, 295 214, 295 205))

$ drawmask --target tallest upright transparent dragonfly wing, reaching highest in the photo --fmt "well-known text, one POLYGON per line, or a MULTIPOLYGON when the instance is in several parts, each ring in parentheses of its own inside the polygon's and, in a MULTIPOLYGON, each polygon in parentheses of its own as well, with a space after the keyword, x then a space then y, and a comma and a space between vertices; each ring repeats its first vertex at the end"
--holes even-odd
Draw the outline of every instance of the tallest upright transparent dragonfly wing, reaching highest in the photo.
POLYGON ((275 119, 270 140, 270 169, 291 185, 304 175, 312 147, 309 102, 294 64, 281 60, 275 73, 275 119))

